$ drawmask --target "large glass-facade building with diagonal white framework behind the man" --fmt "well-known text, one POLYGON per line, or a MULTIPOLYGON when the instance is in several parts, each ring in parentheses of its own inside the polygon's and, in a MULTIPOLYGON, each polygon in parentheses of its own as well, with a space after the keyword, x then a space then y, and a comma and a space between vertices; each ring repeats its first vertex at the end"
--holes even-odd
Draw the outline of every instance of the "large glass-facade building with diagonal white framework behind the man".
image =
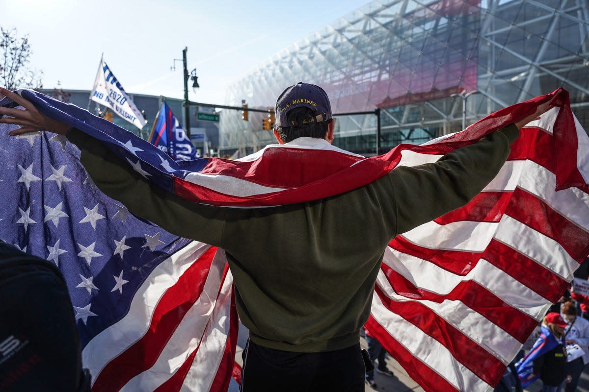
MULTIPOLYGON (((464 99, 468 125, 560 86, 589 129, 589 2, 373 1, 267 59, 226 103, 269 109, 299 81, 329 95, 334 144, 363 155, 376 153, 377 115, 346 113, 380 109, 382 153, 460 130, 464 99)), ((221 152, 273 142, 264 116, 224 110, 221 152)))

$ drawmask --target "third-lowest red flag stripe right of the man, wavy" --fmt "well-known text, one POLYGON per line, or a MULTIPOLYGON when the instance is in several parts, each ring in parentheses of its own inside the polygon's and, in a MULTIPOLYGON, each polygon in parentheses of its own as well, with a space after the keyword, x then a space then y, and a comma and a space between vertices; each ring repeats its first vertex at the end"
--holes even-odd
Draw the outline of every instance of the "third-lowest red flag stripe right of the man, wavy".
POLYGON ((521 343, 528 339, 538 325, 538 321, 533 317, 505 303, 485 287, 472 280, 456 284, 448 294, 437 294, 419 289, 385 263, 381 264, 380 269, 385 273, 386 279, 395 293, 409 299, 428 300, 438 303, 444 300, 461 301, 521 343))

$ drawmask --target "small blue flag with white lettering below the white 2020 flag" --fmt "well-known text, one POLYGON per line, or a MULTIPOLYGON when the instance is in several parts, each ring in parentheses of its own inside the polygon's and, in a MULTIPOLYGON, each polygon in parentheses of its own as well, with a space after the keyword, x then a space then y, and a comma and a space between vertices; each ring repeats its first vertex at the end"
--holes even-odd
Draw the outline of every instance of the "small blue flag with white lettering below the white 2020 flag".
POLYGON ((170 155, 174 160, 191 160, 200 158, 196 148, 188 139, 186 132, 166 101, 161 104, 160 112, 148 141, 158 149, 170 155))

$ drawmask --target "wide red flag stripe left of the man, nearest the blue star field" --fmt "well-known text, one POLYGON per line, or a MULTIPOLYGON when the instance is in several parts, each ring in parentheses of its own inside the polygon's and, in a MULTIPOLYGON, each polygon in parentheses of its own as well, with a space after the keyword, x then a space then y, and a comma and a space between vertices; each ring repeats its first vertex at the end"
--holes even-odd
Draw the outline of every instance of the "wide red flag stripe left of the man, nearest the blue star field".
POLYGON ((211 246, 166 291, 145 335, 102 369, 93 391, 119 390, 131 378, 153 366, 184 314, 200 297, 216 252, 217 248, 211 246))

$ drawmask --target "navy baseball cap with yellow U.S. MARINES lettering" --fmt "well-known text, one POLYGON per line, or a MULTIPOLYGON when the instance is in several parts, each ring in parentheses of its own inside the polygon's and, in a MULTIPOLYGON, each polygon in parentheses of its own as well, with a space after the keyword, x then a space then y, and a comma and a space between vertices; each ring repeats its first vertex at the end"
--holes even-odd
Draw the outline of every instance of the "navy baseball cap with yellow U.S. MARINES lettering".
POLYGON ((276 125, 283 128, 300 125, 294 123, 294 121, 289 123, 286 120, 286 113, 301 106, 313 110, 313 116, 309 118, 308 123, 324 122, 332 118, 331 104, 325 90, 316 85, 299 82, 296 85, 287 87, 278 96, 276 108, 274 108, 276 125))

